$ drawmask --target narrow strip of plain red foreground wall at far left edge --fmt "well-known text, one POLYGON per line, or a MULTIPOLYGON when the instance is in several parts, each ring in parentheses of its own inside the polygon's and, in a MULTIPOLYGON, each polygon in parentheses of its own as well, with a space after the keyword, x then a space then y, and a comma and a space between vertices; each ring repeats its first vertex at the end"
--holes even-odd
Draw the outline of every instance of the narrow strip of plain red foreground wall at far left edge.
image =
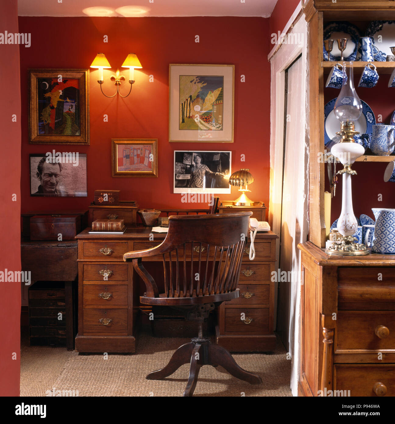
MULTIPOLYGON (((3 2, 0 31, 17 33, 17 2, 3 2)), ((20 162, 21 99, 19 89, 19 46, 1 45, 0 78, 0 271, 20 271, 20 162), (12 122, 12 115, 16 122, 12 122), (16 195, 16 201, 12 200, 16 195)), ((0 396, 19 396, 21 285, 0 283, 0 396), (13 359, 14 356, 14 359, 13 359)))

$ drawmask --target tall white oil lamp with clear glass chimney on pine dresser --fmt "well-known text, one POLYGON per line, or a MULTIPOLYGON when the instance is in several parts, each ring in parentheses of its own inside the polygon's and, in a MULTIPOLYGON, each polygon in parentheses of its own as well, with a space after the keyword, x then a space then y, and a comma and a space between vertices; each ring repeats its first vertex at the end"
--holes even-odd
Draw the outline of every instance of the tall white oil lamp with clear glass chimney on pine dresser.
POLYGON ((358 229, 358 221, 353 211, 353 199, 351 195, 351 175, 356 171, 351 165, 359 156, 364 154, 365 149, 355 142, 353 136, 359 134, 355 131, 355 121, 362 113, 362 102, 356 94, 353 81, 353 62, 343 63, 343 70, 348 70, 348 78, 343 78, 343 86, 334 106, 334 114, 341 122, 341 131, 336 133, 342 139, 331 148, 331 153, 342 163, 343 169, 338 172, 342 175, 342 211, 337 220, 337 230, 342 235, 339 242, 333 243, 325 251, 335 255, 367 255, 369 250, 364 244, 356 243, 353 234, 358 229))

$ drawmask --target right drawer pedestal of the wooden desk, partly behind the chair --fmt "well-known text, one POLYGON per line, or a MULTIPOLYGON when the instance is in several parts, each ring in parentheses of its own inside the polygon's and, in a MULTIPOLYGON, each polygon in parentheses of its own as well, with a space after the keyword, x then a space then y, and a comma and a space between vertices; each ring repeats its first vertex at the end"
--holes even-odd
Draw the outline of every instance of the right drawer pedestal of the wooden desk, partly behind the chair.
POLYGON ((245 246, 239 276, 240 296, 218 308, 217 343, 230 351, 275 349, 274 282, 275 241, 273 232, 257 233, 255 259, 250 261, 250 238, 245 246))

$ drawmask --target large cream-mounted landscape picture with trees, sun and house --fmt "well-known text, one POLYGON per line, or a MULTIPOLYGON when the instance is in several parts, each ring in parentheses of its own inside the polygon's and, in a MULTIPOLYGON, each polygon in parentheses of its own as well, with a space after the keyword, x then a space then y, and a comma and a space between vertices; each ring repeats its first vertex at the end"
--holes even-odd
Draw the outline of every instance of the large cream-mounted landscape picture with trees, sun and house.
POLYGON ((169 141, 233 143, 234 65, 169 65, 169 141))

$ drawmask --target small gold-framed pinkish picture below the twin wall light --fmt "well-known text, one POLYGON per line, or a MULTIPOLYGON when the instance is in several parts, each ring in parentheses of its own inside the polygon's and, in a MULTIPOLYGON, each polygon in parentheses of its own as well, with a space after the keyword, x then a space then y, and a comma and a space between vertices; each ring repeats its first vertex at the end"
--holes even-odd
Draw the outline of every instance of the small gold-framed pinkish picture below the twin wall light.
POLYGON ((111 139, 113 177, 157 177, 158 139, 111 139))

